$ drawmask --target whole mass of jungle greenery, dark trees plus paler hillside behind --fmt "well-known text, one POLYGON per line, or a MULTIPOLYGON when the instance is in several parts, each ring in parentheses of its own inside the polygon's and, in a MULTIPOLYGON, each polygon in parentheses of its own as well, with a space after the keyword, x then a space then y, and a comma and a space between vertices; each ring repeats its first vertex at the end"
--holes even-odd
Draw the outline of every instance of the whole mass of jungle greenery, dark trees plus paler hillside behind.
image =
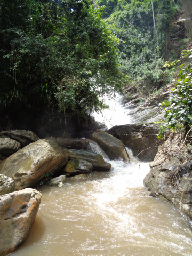
POLYGON ((82 118, 127 84, 147 98, 166 83, 172 21, 189 2, 0 0, 1 115, 58 106, 82 118))

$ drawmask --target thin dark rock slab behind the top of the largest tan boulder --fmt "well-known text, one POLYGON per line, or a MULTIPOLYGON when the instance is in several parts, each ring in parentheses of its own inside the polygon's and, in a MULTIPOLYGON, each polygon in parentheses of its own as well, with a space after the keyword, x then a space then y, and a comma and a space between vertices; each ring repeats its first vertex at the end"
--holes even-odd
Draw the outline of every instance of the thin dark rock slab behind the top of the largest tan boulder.
POLYGON ((73 138, 45 138, 48 141, 57 143, 61 147, 67 149, 86 149, 89 145, 89 140, 87 139, 73 139, 73 138))

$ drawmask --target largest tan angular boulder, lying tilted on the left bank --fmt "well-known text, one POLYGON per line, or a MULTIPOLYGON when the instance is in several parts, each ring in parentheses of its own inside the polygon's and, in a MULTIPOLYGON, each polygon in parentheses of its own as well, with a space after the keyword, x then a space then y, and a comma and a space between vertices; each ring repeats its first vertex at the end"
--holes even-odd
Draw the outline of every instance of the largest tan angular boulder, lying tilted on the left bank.
POLYGON ((54 173, 68 162, 68 149, 56 143, 38 140, 6 158, 0 173, 15 181, 15 189, 33 187, 45 175, 54 173))

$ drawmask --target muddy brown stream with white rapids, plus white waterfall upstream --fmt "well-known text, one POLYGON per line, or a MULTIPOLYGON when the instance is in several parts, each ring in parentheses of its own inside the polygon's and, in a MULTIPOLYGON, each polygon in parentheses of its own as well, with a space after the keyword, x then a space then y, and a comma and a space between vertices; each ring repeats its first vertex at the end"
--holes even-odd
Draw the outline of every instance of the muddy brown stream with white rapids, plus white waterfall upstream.
MULTIPOLYGON (((108 128, 129 123, 121 97, 109 103, 117 115, 109 115, 108 109, 98 121, 108 128)), ((39 188, 42 201, 36 221, 27 241, 11 255, 191 256, 192 232, 186 219, 171 203, 149 196, 142 183, 148 163, 131 159, 131 164, 107 161, 111 171, 67 181, 62 188, 39 188)))

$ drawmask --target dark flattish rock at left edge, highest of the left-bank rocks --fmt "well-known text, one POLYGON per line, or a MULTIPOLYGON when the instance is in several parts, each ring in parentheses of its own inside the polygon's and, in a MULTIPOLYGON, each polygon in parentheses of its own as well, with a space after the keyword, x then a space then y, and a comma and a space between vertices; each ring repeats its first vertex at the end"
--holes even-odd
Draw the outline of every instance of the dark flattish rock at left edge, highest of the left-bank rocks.
POLYGON ((18 141, 21 144, 21 147, 25 147, 28 144, 39 140, 35 133, 26 130, 3 131, 0 132, 0 136, 7 136, 8 138, 18 141))

